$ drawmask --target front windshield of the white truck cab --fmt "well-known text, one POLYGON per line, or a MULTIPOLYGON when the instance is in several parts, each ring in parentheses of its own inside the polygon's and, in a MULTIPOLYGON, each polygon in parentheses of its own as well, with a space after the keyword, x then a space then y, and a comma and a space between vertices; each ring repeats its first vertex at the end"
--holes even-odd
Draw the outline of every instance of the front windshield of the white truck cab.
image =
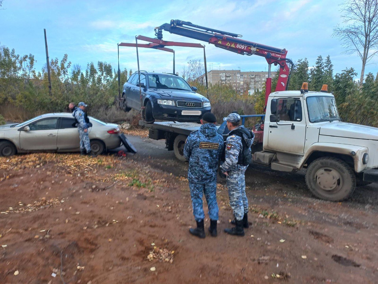
POLYGON ((334 97, 308 97, 306 102, 310 122, 340 120, 334 97))

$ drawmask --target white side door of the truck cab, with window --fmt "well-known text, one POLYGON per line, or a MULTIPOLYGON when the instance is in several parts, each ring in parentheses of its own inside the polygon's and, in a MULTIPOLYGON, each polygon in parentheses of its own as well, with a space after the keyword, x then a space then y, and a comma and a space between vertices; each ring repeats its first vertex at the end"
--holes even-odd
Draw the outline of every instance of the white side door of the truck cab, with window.
POLYGON ((269 123, 268 148, 303 154, 306 137, 303 103, 297 98, 277 98, 276 100, 277 121, 269 123))

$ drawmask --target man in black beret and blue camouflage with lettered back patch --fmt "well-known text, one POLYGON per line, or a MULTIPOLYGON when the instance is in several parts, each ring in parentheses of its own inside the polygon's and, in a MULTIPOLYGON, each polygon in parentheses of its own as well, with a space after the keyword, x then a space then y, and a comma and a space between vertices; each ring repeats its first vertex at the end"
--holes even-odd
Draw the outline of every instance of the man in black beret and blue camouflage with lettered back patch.
POLYGON ((218 204, 217 204, 217 168, 223 153, 223 137, 217 133, 215 116, 211 112, 203 114, 201 127, 187 137, 184 156, 189 161, 188 180, 192 198, 193 215, 197 228, 189 229, 194 236, 204 238, 205 214, 202 196, 205 194, 208 203, 211 236, 217 236, 218 204))

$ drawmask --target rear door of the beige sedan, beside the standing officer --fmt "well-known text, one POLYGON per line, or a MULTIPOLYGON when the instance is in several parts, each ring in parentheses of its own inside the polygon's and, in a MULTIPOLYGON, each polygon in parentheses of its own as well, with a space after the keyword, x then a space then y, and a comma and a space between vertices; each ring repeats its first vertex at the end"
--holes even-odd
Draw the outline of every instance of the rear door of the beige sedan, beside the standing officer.
POLYGON ((75 119, 72 117, 60 118, 58 130, 57 150, 58 151, 79 151, 80 137, 75 119))

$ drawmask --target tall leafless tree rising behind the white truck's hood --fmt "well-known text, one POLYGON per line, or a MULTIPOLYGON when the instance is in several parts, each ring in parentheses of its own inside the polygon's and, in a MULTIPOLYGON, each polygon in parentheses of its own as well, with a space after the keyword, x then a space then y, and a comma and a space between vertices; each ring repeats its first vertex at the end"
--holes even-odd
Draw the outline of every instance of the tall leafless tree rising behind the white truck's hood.
POLYGON ((349 0, 342 4, 344 26, 337 25, 333 36, 339 38, 344 53, 357 52, 362 61, 360 85, 364 82, 365 66, 378 53, 378 0, 349 0))

